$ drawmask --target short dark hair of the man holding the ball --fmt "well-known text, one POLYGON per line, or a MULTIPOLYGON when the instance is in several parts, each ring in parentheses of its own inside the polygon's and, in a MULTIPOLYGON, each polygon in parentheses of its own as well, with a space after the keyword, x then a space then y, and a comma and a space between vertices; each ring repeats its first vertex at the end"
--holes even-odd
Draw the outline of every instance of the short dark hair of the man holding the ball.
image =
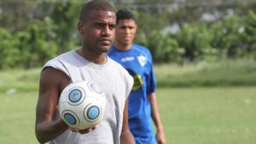
POLYGON ((80 12, 79 20, 81 20, 81 21, 86 20, 86 18, 88 17, 88 14, 92 10, 104 10, 104 11, 115 12, 113 6, 111 6, 111 4, 108 3, 108 1, 93 0, 93 1, 89 1, 88 3, 84 4, 84 6, 80 12))

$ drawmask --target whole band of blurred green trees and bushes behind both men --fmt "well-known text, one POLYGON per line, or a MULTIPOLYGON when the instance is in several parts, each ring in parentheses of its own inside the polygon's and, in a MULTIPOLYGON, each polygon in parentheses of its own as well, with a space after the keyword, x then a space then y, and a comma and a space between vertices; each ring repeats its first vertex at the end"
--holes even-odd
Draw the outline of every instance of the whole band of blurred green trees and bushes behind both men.
MULTIPOLYGON (((76 24, 85 1, 0 2, 0 69, 40 67, 81 45, 76 24)), ((137 44, 155 63, 256 58, 256 1, 111 1, 136 15, 137 44)))

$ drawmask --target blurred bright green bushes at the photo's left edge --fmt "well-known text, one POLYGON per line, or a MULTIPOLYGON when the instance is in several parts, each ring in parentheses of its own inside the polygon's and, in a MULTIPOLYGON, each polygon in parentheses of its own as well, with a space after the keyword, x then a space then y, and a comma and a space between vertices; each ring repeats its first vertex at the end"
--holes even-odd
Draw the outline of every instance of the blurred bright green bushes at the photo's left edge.
POLYGON ((47 40, 48 35, 45 26, 37 24, 29 24, 14 34, 0 28, 0 69, 42 66, 57 52, 56 44, 47 40))

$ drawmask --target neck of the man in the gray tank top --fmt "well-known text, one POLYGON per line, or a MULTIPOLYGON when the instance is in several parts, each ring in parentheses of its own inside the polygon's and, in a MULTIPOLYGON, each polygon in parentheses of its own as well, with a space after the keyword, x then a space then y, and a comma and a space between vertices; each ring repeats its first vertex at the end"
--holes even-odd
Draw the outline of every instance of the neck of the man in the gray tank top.
POLYGON ((82 56, 83 58, 85 58, 86 60, 98 64, 98 65, 102 65, 104 63, 107 62, 107 58, 106 58, 106 54, 102 53, 102 54, 95 54, 93 52, 88 51, 87 49, 78 49, 77 53, 82 56))

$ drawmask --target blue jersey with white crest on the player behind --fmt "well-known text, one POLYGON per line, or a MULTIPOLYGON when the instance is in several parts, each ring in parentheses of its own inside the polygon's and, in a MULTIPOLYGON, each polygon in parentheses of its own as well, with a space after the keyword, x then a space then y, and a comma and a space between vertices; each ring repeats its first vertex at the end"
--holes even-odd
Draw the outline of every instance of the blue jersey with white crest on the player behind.
POLYGON ((132 44, 128 51, 113 45, 108 56, 120 63, 133 77, 134 85, 129 96, 129 128, 134 136, 154 136, 151 109, 147 96, 156 90, 156 79, 150 51, 132 44))

